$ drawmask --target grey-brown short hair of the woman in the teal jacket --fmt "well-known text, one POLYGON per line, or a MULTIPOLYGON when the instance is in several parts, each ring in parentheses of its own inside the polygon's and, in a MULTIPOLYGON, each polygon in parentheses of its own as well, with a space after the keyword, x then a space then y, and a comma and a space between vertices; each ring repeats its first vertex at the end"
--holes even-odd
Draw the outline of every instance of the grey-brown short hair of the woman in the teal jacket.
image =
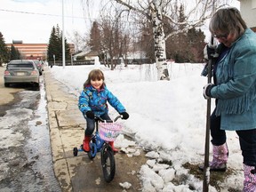
POLYGON ((217 33, 234 34, 239 37, 247 28, 240 12, 235 7, 220 9, 214 13, 210 21, 209 30, 212 35, 217 33))

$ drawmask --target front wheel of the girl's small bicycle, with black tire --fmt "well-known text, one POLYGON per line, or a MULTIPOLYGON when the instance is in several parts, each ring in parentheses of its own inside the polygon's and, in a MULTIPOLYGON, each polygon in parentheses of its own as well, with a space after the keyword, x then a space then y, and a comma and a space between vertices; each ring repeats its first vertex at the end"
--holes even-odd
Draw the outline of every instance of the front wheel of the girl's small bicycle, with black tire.
POLYGON ((101 150, 101 165, 104 179, 110 182, 115 177, 116 162, 112 148, 108 148, 106 145, 101 150))

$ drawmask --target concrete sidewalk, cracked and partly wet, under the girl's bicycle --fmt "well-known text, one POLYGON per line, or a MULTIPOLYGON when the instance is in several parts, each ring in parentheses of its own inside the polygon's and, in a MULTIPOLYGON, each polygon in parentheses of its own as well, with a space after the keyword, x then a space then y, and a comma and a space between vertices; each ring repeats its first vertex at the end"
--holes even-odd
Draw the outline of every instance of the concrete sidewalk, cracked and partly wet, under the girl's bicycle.
POLYGON ((128 157, 126 154, 116 154, 115 179, 110 183, 105 182, 100 154, 93 160, 84 152, 73 156, 73 148, 79 148, 82 144, 85 126, 84 117, 77 107, 76 96, 68 93, 68 87, 51 76, 51 68, 44 68, 44 83, 48 102, 52 162, 62 191, 123 191, 124 188, 119 186, 119 183, 123 182, 132 184, 132 188, 125 191, 139 191, 140 180, 137 174, 140 166, 146 163, 145 156, 128 157))

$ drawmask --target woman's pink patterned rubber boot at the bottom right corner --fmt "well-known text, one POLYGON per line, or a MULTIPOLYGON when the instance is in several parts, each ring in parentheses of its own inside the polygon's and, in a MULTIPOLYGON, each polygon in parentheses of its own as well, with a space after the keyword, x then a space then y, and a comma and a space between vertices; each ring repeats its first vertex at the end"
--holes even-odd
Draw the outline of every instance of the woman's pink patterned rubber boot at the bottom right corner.
POLYGON ((256 191, 256 170, 254 166, 244 164, 244 188, 243 192, 256 191))

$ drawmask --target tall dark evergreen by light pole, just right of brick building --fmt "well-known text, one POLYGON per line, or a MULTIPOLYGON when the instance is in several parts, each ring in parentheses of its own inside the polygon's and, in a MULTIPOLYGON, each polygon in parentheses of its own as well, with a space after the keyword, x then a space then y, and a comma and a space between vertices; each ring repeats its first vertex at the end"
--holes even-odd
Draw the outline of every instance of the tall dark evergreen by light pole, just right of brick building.
MULTIPOLYGON (((52 27, 51 36, 48 44, 47 58, 48 60, 62 60, 62 32, 60 32, 60 28, 57 25, 55 28, 52 27)), ((67 39, 65 38, 65 58, 66 60, 70 59, 70 51, 67 43, 67 39)))

